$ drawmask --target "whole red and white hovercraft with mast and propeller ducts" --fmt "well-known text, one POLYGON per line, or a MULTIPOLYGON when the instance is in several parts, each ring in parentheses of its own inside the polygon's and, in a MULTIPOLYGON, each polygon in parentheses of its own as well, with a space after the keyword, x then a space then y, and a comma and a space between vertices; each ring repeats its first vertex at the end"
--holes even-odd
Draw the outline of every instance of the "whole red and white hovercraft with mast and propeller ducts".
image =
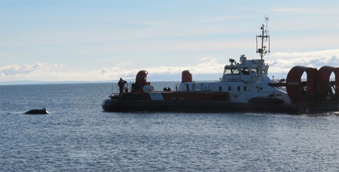
POLYGON ((224 67, 218 82, 195 82, 189 70, 182 72, 182 81, 171 91, 154 91, 147 82, 148 72, 138 72, 131 92, 112 94, 102 103, 105 111, 173 111, 173 112, 227 112, 227 111, 269 111, 287 113, 307 113, 339 111, 339 67, 323 66, 319 70, 311 67, 295 66, 286 81, 274 82, 268 78, 268 64, 263 57, 270 52, 264 46, 268 40, 266 28, 262 24, 261 35, 257 35, 261 47, 257 53, 261 59, 247 60, 245 55, 239 63, 230 59, 224 67), (303 73, 307 81, 301 81, 303 73), (330 81, 330 75, 335 80, 330 81))

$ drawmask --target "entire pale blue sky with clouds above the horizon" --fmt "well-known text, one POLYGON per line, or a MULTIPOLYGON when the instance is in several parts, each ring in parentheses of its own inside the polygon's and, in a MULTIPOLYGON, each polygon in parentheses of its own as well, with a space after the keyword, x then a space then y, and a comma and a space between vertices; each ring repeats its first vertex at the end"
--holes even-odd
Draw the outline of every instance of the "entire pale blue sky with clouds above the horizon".
POLYGON ((339 66, 338 0, 0 0, 0 82, 217 80, 265 15, 270 77, 339 66))

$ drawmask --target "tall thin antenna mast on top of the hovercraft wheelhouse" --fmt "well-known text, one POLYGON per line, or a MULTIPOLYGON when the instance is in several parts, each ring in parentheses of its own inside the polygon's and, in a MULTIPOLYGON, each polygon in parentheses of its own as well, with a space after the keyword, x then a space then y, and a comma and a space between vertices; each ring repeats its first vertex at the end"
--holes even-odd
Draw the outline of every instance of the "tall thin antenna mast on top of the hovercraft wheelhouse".
POLYGON ((269 16, 266 17, 265 15, 266 28, 265 28, 265 25, 262 24, 262 26, 260 27, 262 34, 256 36, 257 53, 259 53, 261 57, 260 73, 262 72, 262 63, 263 63, 262 58, 267 54, 267 52, 270 53, 270 35, 268 34, 268 30, 267 30, 268 20, 269 20, 269 16), (259 48, 258 48, 258 38, 261 39, 261 40, 259 39, 259 41, 261 41, 261 47, 259 48), (268 51, 266 50, 267 47, 263 44, 264 42, 267 42, 267 40, 268 40, 268 51))

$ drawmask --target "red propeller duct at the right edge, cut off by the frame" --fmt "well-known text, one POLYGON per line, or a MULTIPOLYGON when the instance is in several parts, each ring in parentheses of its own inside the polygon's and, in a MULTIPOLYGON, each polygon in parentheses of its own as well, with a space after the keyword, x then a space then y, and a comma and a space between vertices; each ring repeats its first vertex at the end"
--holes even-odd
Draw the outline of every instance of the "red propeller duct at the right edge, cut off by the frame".
POLYGON ((319 69, 319 78, 321 79, 319 82, 320 89, 319 92, 322 98, 326 98, 327 95, 330 94, 330 76, 332 72, 335 74, 335 96, 339 95, 339 68, 332 66, 323 66, 319 69))

